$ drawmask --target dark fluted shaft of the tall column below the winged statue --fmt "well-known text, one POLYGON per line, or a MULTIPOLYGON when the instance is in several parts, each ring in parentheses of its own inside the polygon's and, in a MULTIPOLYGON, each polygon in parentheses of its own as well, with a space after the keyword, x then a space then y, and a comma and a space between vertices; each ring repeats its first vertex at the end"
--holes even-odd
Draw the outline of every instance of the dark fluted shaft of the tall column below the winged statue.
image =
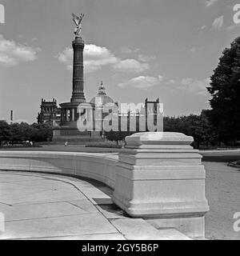
POLYGON ((73 63, 73 94, 71 102, 86 102, 84 96, 83 81, 83 49, 84 41, 80 37, 76 37, 73 41, 74 63, 73 63))

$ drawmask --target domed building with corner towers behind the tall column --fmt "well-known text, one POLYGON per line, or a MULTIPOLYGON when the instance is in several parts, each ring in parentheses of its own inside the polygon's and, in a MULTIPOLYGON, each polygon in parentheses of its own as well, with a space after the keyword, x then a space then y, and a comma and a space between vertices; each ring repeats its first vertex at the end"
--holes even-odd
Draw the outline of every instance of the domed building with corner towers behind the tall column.
MULTIPOLYGON (((98 88, 97 96, 90 100, 90 106, 92 106, 93 112, 91 110, 90 113, 86 113, 86 117, 89 119, 90 116, 92 116, 90 120, 92 120, 93 123, 96 122, 101 124, 102 129, 100 127, 100 136, 104 138, 105 132, 103 130, 103 119, 110 114, 105 110, 105 106, 118 108, 118 102, 114 102, 114 100, 106 94, 106 88, 103 86, 103 83, 101 83, 101 86, 98 88), (100 115, 98 116, 98 114, 100 115)), ((123 110, 122 112, 121 108, 118 110, 119 131, 132 131, 132 129, 135 129, 137 132, 148 131, 147 118, 150 115, 153 116, 153 125, 157 125, 157 116, 159 113, 161 113, 161 110, 158 110, 160 107, 159 98, 156 101, 149 101, 146 98, 145 102, 139 106, 139 109, 136 111, 123 110), (140 118, 143 118, 142 121, 144 120, 141 127, 140 118)), ((79 118, 78 112, 74 114, 74 117, 75 121, 77 122, 79 118)), ((38 123, 49 123, 50 125, 55 126, 54 129, 58 130, 59 125, 61 126, 64 122, 66 122, 64 118, 66 118, 66 116, 62 115, 61 119, 61 108, 58 107, 56 99, 53 99, 52 102, 46 102, 45 99, 42 99, 41 112, 38 113, 38 123)), ((70 119, 70 117, 68 119, 70 119)), ((93 127, 95 130, 94 125, 93 127)), ((70 136, 70 134, 68 135, 70 136)))

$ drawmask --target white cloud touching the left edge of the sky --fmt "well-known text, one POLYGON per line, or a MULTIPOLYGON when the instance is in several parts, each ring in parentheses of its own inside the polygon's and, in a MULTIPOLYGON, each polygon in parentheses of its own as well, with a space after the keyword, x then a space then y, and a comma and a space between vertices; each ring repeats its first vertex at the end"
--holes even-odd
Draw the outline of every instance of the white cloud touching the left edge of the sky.
POLYGON ((39 48, 6 40, 0 34, 0 66, 16 66, 19 62, 32 62, 38 58, 39 48))

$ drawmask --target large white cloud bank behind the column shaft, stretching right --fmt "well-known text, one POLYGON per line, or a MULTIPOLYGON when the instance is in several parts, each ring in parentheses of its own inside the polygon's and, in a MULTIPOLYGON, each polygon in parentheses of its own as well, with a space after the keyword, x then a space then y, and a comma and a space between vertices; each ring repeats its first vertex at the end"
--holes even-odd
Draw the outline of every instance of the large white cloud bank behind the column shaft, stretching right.
MULTIPOLYGON (((68 70, 72 69, 73 50, 66 47, 62 53, 58 53, 58 60, 66 65, 68 70)), ((117 58, 106 47, 96 46, 94 44, 86 45, 83 51, 84 69, 86 73, 102 69, 103 66, 111 65, 114 70, 119 72, 142 72, 150 68, 146 62, 138 62, 136 59, 117 58)))

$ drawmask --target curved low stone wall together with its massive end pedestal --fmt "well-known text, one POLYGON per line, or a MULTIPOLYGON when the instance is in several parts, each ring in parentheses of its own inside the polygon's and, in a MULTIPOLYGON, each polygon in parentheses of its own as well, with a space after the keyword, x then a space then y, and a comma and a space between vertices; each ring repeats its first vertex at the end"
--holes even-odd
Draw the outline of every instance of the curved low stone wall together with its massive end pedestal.
POLYGON ((0 151, 0 170, 50 172, 93 178, 114 190, 113 201, 133 218, 204 238, 202 156, 178 133, 138 133, 118 154, 0 151))

